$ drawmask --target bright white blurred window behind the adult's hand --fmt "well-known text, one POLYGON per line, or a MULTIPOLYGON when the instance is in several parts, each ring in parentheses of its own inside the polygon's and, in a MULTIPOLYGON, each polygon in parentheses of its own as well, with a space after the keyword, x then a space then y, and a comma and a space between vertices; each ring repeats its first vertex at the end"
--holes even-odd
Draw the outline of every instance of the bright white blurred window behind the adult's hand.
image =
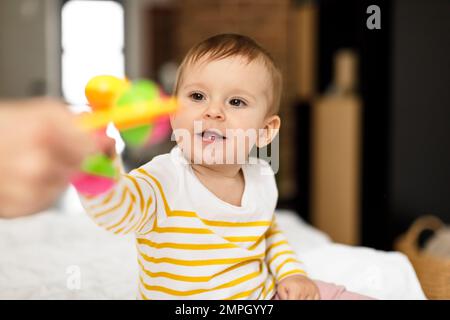
POLYGON ((124 12, 116 1, 71 0, 62 8, 62 90, 72 105, 86 105, 90 78, 125 76, 124 12))

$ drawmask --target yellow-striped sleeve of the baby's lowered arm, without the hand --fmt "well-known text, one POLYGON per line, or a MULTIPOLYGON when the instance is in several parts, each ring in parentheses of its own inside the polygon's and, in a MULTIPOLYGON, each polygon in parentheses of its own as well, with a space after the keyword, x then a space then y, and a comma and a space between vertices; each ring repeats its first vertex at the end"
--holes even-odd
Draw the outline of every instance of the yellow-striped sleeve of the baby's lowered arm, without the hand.
POLYGON ((265 261, 276 282, 291 275, 306 275, 303 263, 297 259, 286 236, 278 227, 275 216, 266 233, 265 261))

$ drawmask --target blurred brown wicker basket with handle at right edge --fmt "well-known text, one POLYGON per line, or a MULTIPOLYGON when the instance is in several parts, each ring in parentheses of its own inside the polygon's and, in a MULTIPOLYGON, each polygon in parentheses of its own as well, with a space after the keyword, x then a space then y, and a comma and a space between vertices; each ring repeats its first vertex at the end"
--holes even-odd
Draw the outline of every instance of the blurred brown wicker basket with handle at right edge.
POLYGON ((411 261, 429 299, 450 299, 450 259, 421 251, 418 238, 424 230, 436 231, 443 227, 443 222, 438 218, 424 216, 417 219, 395 242, 395 249, 411 261))

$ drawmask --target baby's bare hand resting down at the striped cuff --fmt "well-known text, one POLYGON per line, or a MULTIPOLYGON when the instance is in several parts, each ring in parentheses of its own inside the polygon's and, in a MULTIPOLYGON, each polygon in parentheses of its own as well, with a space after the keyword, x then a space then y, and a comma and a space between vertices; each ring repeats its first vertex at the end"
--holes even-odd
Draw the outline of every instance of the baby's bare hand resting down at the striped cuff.
POLYGON ((314 281, 303 275, 294 275, 281 280, 277 285, 280 300, 319 300, 319 289, 314 281))

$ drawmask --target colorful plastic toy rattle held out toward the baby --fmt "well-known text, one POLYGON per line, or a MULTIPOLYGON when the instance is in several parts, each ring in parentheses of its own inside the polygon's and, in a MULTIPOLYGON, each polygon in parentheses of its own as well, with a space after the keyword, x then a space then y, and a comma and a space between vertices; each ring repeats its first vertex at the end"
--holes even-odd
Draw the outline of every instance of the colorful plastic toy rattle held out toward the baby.
MULTIPOLYGON (((112 122, 126 144, 139 147, 158 143, 170 132, 168 115, 175 112, 175 98, 166 96, 152 81, 97 76, 85 88, 93 112, 79 116, 85 130, 105 131, 112 122)), ((112 159, 104 154, 89 156, 72 184, 83 195, 93 196, 111 188, 117 179, 112 159)))

